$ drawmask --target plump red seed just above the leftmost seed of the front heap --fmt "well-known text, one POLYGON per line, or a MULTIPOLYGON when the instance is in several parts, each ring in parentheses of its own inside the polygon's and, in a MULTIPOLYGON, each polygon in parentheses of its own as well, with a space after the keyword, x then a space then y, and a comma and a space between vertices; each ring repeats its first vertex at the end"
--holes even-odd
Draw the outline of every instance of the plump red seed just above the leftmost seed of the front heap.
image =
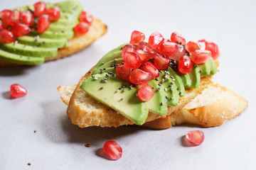
POLYGON ((138 69, 141 66, 142 62, 136 52, 125 52, 124 64, 129 69, 138 69))

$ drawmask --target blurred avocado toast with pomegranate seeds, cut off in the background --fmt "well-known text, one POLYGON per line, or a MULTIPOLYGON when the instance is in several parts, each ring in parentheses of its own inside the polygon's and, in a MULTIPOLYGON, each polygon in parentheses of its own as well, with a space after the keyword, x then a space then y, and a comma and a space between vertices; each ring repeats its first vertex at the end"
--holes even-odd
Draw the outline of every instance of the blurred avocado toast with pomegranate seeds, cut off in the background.
POLYGON ((0 67, 42 64, 78 52, 107 32, 77 0, 0 13, 0 67))

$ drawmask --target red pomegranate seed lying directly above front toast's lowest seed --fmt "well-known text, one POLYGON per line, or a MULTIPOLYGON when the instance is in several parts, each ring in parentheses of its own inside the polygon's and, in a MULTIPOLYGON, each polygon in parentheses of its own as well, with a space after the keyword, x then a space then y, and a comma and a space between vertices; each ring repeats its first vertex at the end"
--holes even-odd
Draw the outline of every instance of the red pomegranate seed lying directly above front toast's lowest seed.
POLYGON ((151 79, 151 74, 142 69, 134 69, 129 76, 129 81, 133 84, 144 84, 151 79))

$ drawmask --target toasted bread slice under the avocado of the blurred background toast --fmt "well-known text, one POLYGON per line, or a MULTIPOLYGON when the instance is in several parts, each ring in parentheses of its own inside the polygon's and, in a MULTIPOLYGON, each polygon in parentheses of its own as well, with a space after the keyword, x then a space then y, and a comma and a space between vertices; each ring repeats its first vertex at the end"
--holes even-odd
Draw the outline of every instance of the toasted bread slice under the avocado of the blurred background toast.
MULTIPOLYGON (((72 39, 68 40, 66 47, 60 48, 58 50, 58 54, 56 56, 46 57, 45 62, 58 60, 69 55, 73 55, 74 53, 79 52, 80 50, 90 45, 105 33, 107 33, 107 26, 102 23, 100 19, 94 18, 92 25, 85 35, 75 35, 72 39)), ((0 67, 14 67, 19 65, 21 64, 16 64, 14 62, 8 62, 0 59, 0 67)))

